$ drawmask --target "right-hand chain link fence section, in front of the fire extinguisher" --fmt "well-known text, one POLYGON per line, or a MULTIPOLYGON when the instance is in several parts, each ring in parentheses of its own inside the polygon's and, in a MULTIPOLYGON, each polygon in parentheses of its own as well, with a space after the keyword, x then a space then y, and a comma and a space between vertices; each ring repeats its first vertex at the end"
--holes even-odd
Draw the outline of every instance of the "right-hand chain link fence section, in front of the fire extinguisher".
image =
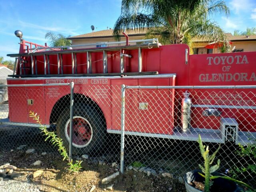
MULTIPOLYGON (((126 167, 182 176, 202 164, 198 134, 212 151, 221 145, 219 172, 256 162, 255 156, 238 155, 238 144, 256 142, 256 86, 123 85, 121 117, 122 130, 112 133, 122 134, 126 167)), ((237 175, 256 183, 255 172, 237 175)))

